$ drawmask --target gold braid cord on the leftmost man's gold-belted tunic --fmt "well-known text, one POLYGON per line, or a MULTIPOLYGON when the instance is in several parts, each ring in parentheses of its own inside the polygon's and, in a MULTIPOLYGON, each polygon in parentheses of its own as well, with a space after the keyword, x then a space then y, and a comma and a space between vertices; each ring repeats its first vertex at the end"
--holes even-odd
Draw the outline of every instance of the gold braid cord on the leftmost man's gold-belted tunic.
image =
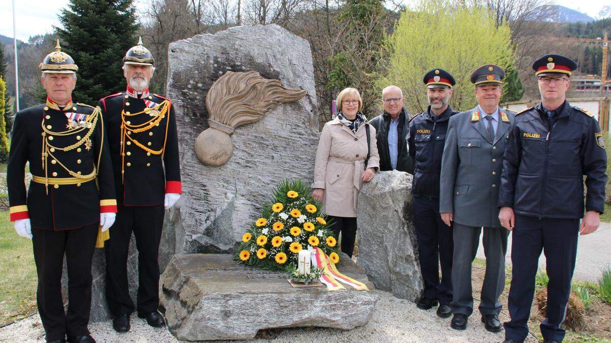
POLYGON ((100 107, 95 107, 95 109, 93 110, 92 114, 87 116, 87 119, 85 120, 85 125, 79 126, 76 129, 67 129, 66 131, 51 131, 49 129, 46 128, 45 126, 45 117, 43 116, 42 119, 42 123, 40 124, 40 126, 42 126, 42 168, 45 170, 45 187, 46 187, 46 192, 49 192, 49 175, 48 175, 48 157, 51 156, 51 158, 53 158, 55 161, 57 161, 57 163, 64 168, 65 171, 68 172, 68 174, 70 174, 71 176, 73 176, 74 178, 78 178, 78 179, 91 179, 95 176, 97 176, 97 170, 95 168, 95 165, 93 165, 93 171, 87 175, 82 175, 82 173, 80 171, 75 172, 72 171, 70 169, 68 169, 68 167, 66 167, 61 161, 59 161, 59 159, 53 155, 53 152, 56 150, 59 151, 70 151, 70 150, 75 150, 76 148, 78 148, 81 145, 86 144, 86 148, 87 150, 89 150, 89 147, 87 147, 87 143, 91 143, 90 137, 93 134, 93 131, 95 130, 95 125, 98 122, 98 116, 100 115, 100 107), (50 142, 50 137, 53 136, 67 136, 67 135, 75 135, 78 133, 84 133, 84 136, 79 139, 78 142, 76 142, 75 144, 72 145, 68 145, 65 146, 64 148, 60 148, 59 146, 54 146, 51 145, 50 142), (47 135, 49 137, 47 137, 47 135))

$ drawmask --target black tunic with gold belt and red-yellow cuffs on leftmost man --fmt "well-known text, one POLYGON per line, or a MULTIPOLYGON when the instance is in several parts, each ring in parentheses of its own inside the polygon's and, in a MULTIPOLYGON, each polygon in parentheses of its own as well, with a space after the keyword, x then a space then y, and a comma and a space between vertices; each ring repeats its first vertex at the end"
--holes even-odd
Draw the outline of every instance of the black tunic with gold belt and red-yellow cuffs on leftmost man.
POLYGON ((99 222, 101 212, 117 212, 108 137, 99 109, 94 111, 94 107, 72 103, 60 109, 57 104, 47 101, 47 104, 18 112, 10 144, 7 186, 10 219, 30 218, 32 228, 56 231, 81 228, 99 222), (97 119, 94 119, 96 116, 97 119), (68 117, 83 123, 91 117, 90 128, 93 130, 88 139, 86 135, 90 128, 87 128, 87 125, 68 131, 68 117), (43 132, 43 126, 50 132, 68 133, 46 133, 43 132), (42 155, 43 140, 51 145, 46 146, 46 170, 45 158, 42 155), (56 149, 79 142, 81 144, 78 147, 69 151, 56 149), (56 178, 73 178, 67 170, 89 175, 95 167, 97 179, 76 184, 51 183, 48 186, 31 181, 26 197, 26 162, 29 162, 29 170, 34 177, 48 177, 51 181, 56 178))

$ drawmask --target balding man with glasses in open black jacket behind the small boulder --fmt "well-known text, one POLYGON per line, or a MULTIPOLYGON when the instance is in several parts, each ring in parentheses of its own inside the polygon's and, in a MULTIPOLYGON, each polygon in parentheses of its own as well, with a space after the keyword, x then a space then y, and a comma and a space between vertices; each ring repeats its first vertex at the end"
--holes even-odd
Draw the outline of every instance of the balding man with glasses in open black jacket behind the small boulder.
POLYGON ((409 131, 409 115, 403 109, 401 88, 390 85, 382 90, 384 113, 369 121, 376 128, 380 170, 399 170, 414 173, 412 157, 408 154, 405 136, 409 131))

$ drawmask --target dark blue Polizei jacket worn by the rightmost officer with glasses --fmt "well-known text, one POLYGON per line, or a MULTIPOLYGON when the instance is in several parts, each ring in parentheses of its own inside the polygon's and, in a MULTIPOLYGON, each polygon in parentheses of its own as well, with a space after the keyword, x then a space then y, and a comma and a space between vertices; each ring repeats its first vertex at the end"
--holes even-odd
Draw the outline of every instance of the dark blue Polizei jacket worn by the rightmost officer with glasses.
POLYGON ((598 121, 568 102, 548 123, 541 104, 516 115, 503 156, 499 207, 539 218, 604 211, 607 155, 598 121))

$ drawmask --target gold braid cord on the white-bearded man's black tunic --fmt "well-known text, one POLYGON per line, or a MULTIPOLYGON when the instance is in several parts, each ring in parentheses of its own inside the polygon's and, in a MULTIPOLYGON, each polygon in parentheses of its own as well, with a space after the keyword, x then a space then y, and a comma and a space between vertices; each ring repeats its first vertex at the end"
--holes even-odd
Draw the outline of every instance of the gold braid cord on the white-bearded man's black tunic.
POLYGON ((163 118, 166 117, 166 114, 169 111, 169 109, 170 109, 170 102, 167 100, 164 100, 161 102, 161 104, 158 104, 157 106, 152 107, 152 108, 145 107, 145 109, 140 112, 126 113, 125 110, 121 111, 121 177, 122 178, 123 178, 123 174, 125 174, 125 144, 128 140, 133 142, 138 148, 141 148, 142 150, 146 151, 147 153, 150 153, 153 155, 163 154, 164 149, 165 149, 165 144, 164 144, 164 147, 161 148, 160 150, 153 150, 151 148, 148 148, 146 145, 142 144, 141 142, 138 142, 136 139, 132 138, 131 134, 139 133, 139 132, 146 132, 155 126, 159 126, 159 123, 161 123, 161 120, 163 120, 163 118), (151 118, 148 121, 145 121, 142 124, 132 125, 130 121, 126 120, 126 118, 134 117, 136 115, 141 115, 141 114, 148 114, 152 111, 157 111, 158 114, 156 114, 153 118, 151 118))

